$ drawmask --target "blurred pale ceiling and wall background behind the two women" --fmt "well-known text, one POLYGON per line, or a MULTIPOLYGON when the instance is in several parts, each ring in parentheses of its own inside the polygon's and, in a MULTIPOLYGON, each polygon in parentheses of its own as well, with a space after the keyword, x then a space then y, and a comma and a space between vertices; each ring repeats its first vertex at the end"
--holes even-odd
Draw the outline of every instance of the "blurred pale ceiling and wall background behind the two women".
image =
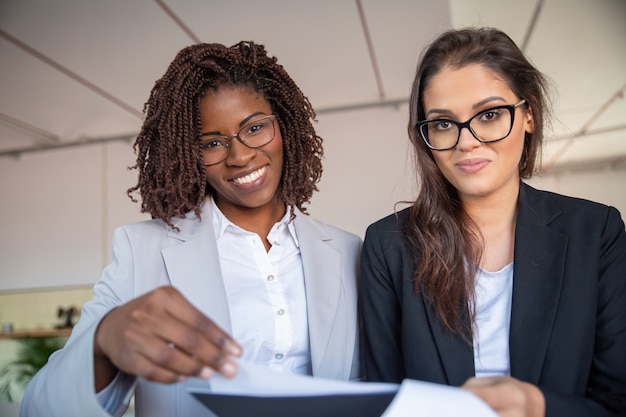
POLYGON ((146 218, 126 168, 180 49, 253 40, 278 58, 325 140, 309 212, 363 236, 414 197, 416 63, 464 26, 504 30, 553 83, 531 184, 626 213, 624 0, 0 0, 0 321, 13 328, 0 362, 19 331, 53 328, 59 306, 89 299, 113 229, 146 218))

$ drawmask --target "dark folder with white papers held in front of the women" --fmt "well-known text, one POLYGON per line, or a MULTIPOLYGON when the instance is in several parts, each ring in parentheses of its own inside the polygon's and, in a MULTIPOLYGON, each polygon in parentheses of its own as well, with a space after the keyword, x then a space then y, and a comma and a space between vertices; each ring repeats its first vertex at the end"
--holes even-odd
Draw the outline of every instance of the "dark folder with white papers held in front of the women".
POLYGON ((497 417, 478 397, 446 385, 408 379, 400 385, 335 381, 282 374, 244 361, 238 367, 234 378, 216 374, 206 387, 195 386, 191 393, 219 417, 250 410, 273 417, 497 417))

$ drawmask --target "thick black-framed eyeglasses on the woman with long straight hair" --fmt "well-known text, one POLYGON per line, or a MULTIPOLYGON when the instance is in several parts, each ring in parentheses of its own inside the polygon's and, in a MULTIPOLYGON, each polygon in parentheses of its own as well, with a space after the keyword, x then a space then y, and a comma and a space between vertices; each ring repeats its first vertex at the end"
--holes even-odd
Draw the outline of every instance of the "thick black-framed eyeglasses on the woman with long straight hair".
POLYGON ((526 103, 521 99, 515 104, 505 104, 481 110, 466 122, 450 119, 429 119, 417 122, 415 128, 426 145, 434 151, 454 148, 466 127, 479 142, 497 142, 509 136, 515 120, 515 109, 526 103))

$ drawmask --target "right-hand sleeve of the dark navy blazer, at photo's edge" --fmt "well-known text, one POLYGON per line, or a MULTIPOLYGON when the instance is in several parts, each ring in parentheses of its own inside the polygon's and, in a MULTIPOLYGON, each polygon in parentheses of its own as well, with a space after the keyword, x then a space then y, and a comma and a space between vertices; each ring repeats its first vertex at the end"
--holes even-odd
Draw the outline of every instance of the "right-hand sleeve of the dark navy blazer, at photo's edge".
POLYGON ((626 231, 612 207, 601 233, 598 267, 596 331, 595 340, 589 341, 594 348, 586 393, 574 397, 540 386, 546 417, 626 416, 626 231))

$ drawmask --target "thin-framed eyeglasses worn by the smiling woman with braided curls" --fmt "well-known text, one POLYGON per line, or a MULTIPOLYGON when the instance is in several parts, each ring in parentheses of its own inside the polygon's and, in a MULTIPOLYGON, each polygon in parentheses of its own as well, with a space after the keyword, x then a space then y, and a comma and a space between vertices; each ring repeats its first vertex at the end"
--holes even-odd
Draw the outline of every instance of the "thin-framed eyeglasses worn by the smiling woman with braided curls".
POLYGON ((200 134, 200 149, 205 165, 215 165, 228 157, 233 139, 246 145, 248 148, 260 148, 270 143, 276 134, 274 121, 276 116, 261 117, 246 123, 239 132, 231 136, 218 136, 212 133, 200 134))

